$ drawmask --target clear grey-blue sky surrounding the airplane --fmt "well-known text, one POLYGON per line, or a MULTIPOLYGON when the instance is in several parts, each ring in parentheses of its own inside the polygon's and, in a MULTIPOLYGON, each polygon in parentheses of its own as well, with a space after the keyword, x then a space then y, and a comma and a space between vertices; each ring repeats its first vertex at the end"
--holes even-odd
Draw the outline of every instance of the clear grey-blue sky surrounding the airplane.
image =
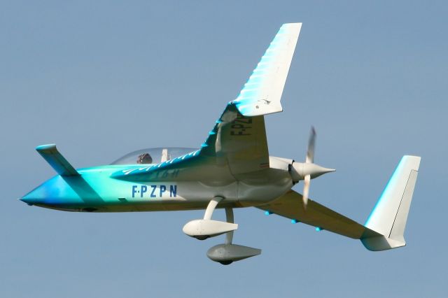
MULTIPOLYGON (((444 297, 448 257, 446 1, 0 1, 0 297, 444 297), (17 201, 55 173, 132 150, 197 147, 281 24, 303 22, 271 155, 337 169, 310 197, 365 222, 400 157, 421 155, 407 246, 238 209, 235 243, 182 233, 202 211, 66 213, 17 201)), ((300 191, 302 185, 295 187, 300 191)), ((223 212, 217 213, 223 218, 223 212)))

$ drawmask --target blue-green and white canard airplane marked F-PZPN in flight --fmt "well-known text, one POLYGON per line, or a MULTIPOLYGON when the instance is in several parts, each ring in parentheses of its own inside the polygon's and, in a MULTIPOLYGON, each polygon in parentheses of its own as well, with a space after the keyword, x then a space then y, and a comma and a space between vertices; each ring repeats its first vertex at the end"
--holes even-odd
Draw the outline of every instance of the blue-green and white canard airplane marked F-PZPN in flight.
POLYGON ((57 172, 20 200, 60 211, 128 212, 203 210, 183 232, 195 239, 225 234, 207 251, 221 264, 260 255, 233 243, 238 225, 233 209, 256 207, 293 223, 359 239, 368 250, 405 246, 407 215, 421 157, 405 155, 365 225, 309 199, 311 179, 335 171, 314 163, 316 132, 311 129, 306 159, 269 156, 264 116, 282 111, 281 94, 302 23, 283 24, 248 78, 230 101, 206 141, 196 148, 150 148, 112 164, 75 169, 54 144, 37 152, 57 172), (303 194, 291 188, 304 181, 303 194), (216 208, 225 221, 212 220, 216 208))

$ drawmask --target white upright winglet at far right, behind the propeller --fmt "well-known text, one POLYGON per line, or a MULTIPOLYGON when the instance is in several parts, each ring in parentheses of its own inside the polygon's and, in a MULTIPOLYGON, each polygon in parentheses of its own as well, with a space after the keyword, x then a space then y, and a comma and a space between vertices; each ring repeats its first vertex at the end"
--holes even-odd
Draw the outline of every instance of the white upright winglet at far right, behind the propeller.
POLYGON ((362 237, 368 250, 388 250, 406 245, 403 236, 421 157, 405 155, 384 188, 365 227, 377 232, 362 237))

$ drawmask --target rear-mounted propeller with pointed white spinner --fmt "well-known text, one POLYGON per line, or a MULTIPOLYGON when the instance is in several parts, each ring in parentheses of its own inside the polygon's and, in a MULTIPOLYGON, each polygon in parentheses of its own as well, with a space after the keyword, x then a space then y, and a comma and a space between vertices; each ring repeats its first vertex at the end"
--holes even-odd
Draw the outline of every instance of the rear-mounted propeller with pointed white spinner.
POLYGON ((303 185, 303 208, 307 209, 308 196, 309 196, 309 185, 312 178, 323 175, 324 173, 329 173, 336 171, 335 169, 327 169, 318 164, 314 164, 314 148, 316 147, 316 129, 311 127, 311 132, 309 133, 308 140, 308 150, 305 162, 293 162, 291 168, 291 176, 293 181, 297 183, 299 180, 304 180, 303 185))

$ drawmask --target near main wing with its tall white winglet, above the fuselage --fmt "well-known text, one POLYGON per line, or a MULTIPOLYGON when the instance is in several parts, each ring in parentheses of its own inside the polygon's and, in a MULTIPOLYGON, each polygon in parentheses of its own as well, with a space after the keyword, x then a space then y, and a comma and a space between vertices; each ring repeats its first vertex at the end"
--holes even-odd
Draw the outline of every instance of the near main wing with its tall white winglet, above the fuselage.
POLYGON ((160 172, 180 169, 186 173, 189 167, 204 164, 228 166, 234 175, 269 168, 263 115, 282 111, 281 94, 301 27, 302 23, 280 27, 239 96, 225 107, 200 150, 160 164, 134 166, 113 173, 113 177, 157 180, 160 172))

